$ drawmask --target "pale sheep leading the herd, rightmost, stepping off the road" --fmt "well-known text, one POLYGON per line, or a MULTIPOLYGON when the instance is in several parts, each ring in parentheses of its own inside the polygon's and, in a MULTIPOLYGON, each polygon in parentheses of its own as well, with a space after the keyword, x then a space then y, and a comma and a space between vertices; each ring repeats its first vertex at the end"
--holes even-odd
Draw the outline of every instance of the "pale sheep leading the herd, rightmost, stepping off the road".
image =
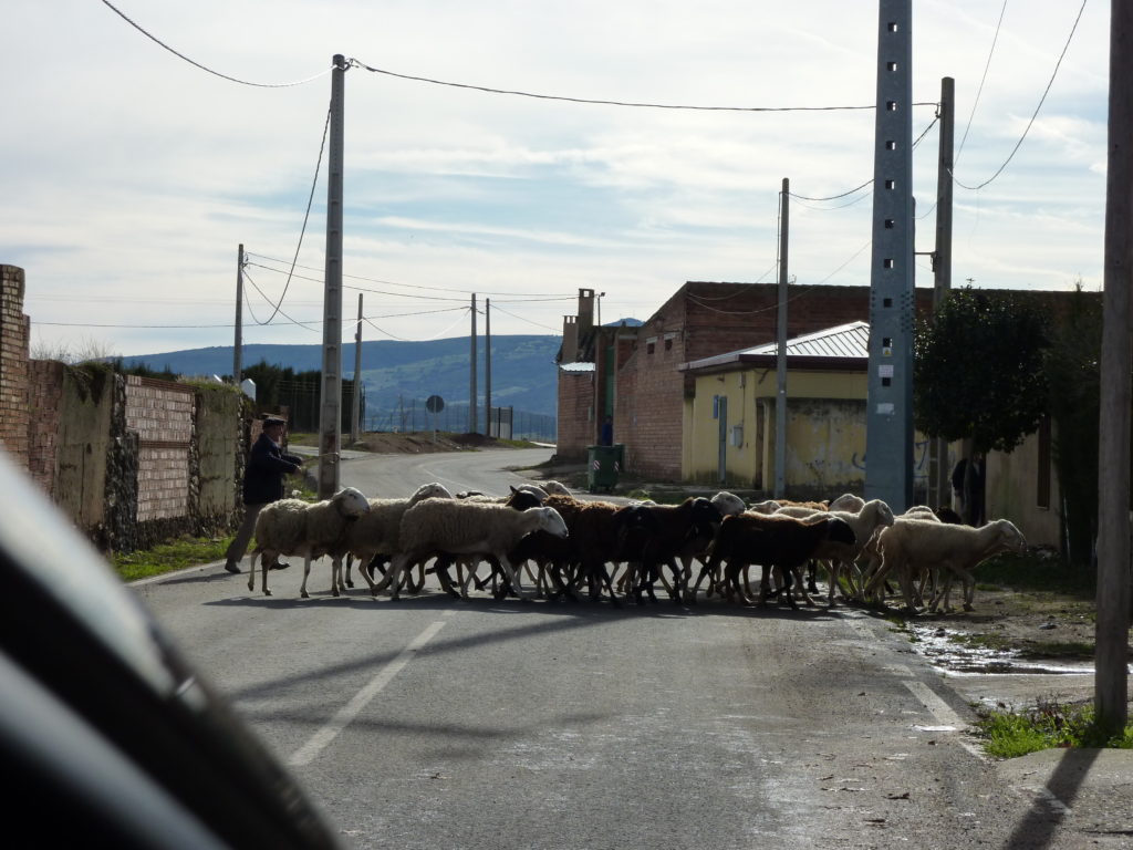
POLYGON ((883 581, 889 572, 896 572, 901 592, 909 610, 915 610, 913 600, 913 577, 923 570, 944 571, 944 592, 934 592, 929 611, 936 611, 944 600, 948 607, 948 594, 955 576, 964 583, 964 611, 972 610, 976 580, 974 569, 981 561, 999 552, 1023 552, 1026 539, 1013 522, 996 519, 979 528, 912 517, 898 517, 878 538, 881 550, 881 567, 870 579, 867 592, 883 581))

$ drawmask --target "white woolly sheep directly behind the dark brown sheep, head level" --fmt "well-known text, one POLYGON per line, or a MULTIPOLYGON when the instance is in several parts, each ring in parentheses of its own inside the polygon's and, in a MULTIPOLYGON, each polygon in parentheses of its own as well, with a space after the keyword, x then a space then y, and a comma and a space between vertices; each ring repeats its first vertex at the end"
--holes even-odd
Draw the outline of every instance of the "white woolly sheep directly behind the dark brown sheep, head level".
MULTIPOLYGON (((406 511, 401 518, 400 547, 386 576, 391 598, 398 598, 402 570, 412 563, 437 554, 492 556, 499 561, 511 587, 521 596, 520 576, 508 554, 525 536, 544 530, 556 537, 566 536, 566 524, 554 508, 529 508, 517 511, 505 504, 485 504, 450 499, 426 499, 406 511)), ((469 570, 461 583, 461 596, 468 596, 469 570)), ((376 586, 372 593, 381 589, 376 586)))

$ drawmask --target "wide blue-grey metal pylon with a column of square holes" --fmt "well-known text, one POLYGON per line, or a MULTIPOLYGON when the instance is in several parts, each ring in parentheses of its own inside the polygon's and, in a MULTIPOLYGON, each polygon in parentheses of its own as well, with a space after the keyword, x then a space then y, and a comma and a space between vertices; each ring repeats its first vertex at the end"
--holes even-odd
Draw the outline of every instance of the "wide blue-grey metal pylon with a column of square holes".
POLYGON ((912 0, 879 0, 866 499, 913 495, 912 0))

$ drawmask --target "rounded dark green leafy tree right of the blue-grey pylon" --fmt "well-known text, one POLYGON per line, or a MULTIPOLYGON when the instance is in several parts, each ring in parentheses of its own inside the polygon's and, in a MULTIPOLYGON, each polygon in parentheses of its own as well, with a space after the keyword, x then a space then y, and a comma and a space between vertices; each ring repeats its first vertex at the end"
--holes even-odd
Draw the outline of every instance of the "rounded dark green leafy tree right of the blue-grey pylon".
MULTIPOLYGON (((954 290, 917 329, 914 424, 929 436, 970 441, 972 460, 1011 451, 1047 414, 1049 345, 1047 321, 1033 300, 954 290)), ((970 487, 968 474, 965 508, 972 504, 970 487)))

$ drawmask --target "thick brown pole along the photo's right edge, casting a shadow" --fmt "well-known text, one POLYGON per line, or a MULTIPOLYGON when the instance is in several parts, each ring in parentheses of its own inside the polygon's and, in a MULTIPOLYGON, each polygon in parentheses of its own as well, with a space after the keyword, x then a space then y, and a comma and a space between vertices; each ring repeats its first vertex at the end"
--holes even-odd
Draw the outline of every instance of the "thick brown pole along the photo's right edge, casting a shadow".
POLYGON ((1094 713, 1110 733, 1128 722, 1130 631, 1130 287, 1133 286, 1133 3, 1110 1, 1109 158, 1106 171, 1105 318, 1098 435, 1098 624, 1094 713))

